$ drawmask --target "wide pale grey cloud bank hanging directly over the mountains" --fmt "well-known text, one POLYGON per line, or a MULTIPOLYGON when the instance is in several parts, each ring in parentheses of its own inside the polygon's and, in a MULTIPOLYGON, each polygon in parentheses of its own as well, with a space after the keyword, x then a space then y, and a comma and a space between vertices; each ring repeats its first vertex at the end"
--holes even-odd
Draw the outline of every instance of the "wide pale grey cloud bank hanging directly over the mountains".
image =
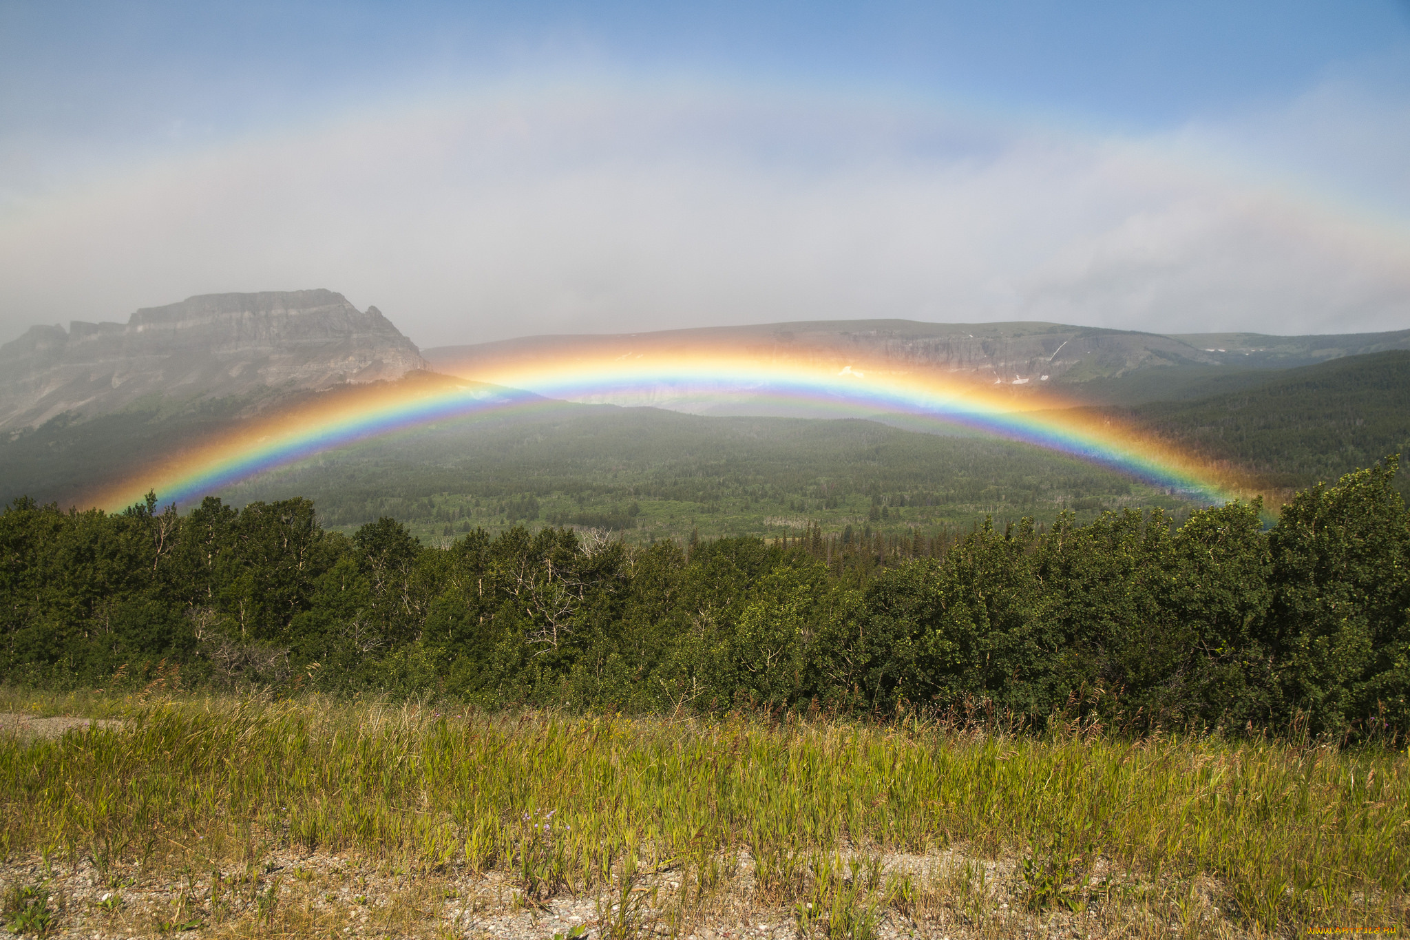
POLYGON ((1344 78, 1141 140, 877 101, 505 92, 21 193, 0 340, 299 287, 376 304, 423 347, 852 317, 1406 328, 1410 175, 1385 154, 1407 145, 1403 103, 1344 78))

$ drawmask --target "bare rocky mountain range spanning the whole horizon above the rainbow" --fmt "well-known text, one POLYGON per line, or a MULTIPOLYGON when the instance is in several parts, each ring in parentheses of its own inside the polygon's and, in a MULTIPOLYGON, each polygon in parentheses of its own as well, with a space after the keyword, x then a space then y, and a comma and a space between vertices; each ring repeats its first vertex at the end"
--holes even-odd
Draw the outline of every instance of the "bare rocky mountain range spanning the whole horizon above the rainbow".
MULTIPOLYGON (((168 403, 316 390, 434 369, 477 379, 505 359, 602 359, 726 352, 761 362, 867 364, 931 372, 1018 396, 1060 389, 1091 404, 1139 404, 1237 390, 1277 369, 1410 350, 1410 330, 1275 337, 1156 334, 1056 323, 850 320, 766 323, 634 334, 520 337, 424 354, 376 307, 331 290, 220 293, 145 307, 128 323, 37 326, 0 347, 0 430, 93 417, 157 395, 168 403)), ((699 413, 736 404, 675 400, 671 389, 611 399, 699 413)), ((721 412, 719 409, 723 409, 721 412)), ((747 412, 749 409, 744 407, 747 412)))

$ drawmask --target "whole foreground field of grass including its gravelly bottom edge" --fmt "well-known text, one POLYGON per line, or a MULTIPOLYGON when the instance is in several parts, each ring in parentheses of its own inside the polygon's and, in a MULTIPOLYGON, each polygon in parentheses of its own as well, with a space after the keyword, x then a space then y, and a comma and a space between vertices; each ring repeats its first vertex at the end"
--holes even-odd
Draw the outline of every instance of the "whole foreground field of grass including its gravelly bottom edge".
POLYGON ((1304 936, 1404 930, 1403 753, 1055 723, 721 722, 189 695, 0 710, 13 930, 1304 936))

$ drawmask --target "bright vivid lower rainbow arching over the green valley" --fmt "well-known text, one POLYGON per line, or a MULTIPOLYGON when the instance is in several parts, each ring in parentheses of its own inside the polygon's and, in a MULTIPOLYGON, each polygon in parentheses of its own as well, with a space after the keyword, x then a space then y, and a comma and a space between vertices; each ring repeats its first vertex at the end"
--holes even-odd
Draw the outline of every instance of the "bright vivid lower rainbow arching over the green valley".
POLYGON ((252 419, 212 440, 165 455, 140 474, 93 496, 116 510, 155 490, 162 503, 185 505, 257 474, 316 454, 412 431, 451 419, 532 413, 558 402, 664 404, 770 403, 807 406, 838 417, 908 416, 1025 441, 1217 503, 1235 495, 1198 459, 1094 412, 1060 407, 1052 395, 1015 395, 964 378, 888 369, 885 365, 821 365, 729 352, 633 357, 560 355, 478 364, 474 378, 412 373, 400 382, 352 386, 252 419))

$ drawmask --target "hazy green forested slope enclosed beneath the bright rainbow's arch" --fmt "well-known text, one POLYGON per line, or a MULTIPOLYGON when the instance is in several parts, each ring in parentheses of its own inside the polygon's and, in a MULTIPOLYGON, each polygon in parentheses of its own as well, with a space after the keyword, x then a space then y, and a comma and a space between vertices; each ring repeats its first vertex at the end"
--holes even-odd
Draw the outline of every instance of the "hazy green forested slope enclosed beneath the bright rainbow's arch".
POLYGON ((798 534, 909 537, 993 516, 1193 506, 1120 474, 1028 444, 936 435, 862 420, 702 417, 556 406, 533 417, 447 421, 369 441, 219 493, 299 493, 330 528, 393 516, 439 544, 515 524, 611 528, 627 541, 798 534))

